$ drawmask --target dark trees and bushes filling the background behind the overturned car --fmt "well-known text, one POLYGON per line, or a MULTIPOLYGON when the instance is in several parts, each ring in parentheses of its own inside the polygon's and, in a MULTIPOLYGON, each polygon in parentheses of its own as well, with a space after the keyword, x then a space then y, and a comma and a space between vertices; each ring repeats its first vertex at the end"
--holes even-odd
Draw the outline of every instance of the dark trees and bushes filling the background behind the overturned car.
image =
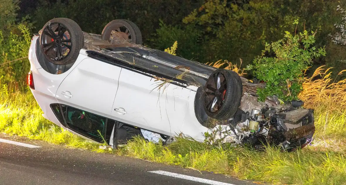
MULTIPOLYGON (((24 22, 32 33, 50 19, 67 17, 83 31, 101 34, 109 21, 135 22, 144 44, 159 50, 178 42, 177 55, 199 62, 227 59, 242 67, 261 54, 264 43, 281 39, 285 31, 317 30, 317 48, 327 55, 314 61, 334 67, 334 74, 346 68, 346 47, 331 42, 334 24, 341 21, 337 5, 346 0, 2 0, 0 26, 4 34, 18 33, 15 24, 24 22)), ((251 72, 249 72, 251 76, 251 72)), ((338 78, 345 78, 338 76, 338 78)))

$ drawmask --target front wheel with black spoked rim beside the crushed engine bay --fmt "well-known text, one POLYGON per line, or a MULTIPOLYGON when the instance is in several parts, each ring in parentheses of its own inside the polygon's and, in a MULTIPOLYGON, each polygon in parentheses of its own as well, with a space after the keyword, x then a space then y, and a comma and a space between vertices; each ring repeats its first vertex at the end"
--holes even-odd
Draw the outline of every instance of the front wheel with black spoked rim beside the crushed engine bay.
POLYGON ((203 107, 208 116, 218 120, 228 120, 234 116, 240 106, 243 83, 236 72, 218 69, 210 75, 203 88, 203 94, 203 107), (219 88, 216 81, 219 81, 219 88), (213 103, 215 99, 217 101, 213 103))

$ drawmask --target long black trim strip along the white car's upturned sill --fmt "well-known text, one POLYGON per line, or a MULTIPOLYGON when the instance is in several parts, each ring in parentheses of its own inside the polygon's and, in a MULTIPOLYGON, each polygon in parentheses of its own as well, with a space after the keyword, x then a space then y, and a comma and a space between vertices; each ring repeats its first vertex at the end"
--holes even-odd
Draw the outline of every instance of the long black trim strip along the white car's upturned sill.
MULTIPOLYGON (((130 71, 133 71, 133 72, 136 72, 136 73, 139 73, 139 74, 143 74, 143 75, 148 76, 148 77, 152 77, 153 78, 152 75, 154 75, 154 76, 157 76, 157 77, 160 77, 160 78, 171 79, 171 80, 174 80, 174 81, 180 82, 180 83, 185 83, 185 84, 189 83, 189 82, 186 82, 184 80, 177 79, 177 78, 172 78, 172 77, 166 76, 164 74, 161 74, 161 73, 158 73, 158 72, 155 72, 155 71, 150 71, 150 70, 147 70, 147 69, 136 67, 134 65, 130 65, 128 62, 117 60, 115 58, 112 58, 111 56, 108 56, 108 55, 105 55, 105 54, 102 54, 102 53, 99 53, 99 52, 95 52, 95 51, 90 51, 89 50, 89 51, 86 51, 86 54, 88 54, 88 57, 90 57, 90 58, 93 58, 93 59, 96 59, 96 60, 99 60, 99 61, 102 61, 102 62, 106 62, 108 64, 115 65, 115 66, 118 66, 118 67, 130 70, 130 71), (149 74, 147 74, 147 73, 149 73, 149 74), (150 75, 150 74, 152 74, 152 75, 150 75)), ((176 83, 176 82, 169 82, 169 83, 177 85, 179 87, 186 88, 186 86, 184 86, 184 85, 182 85, 180 83, 176 83)))

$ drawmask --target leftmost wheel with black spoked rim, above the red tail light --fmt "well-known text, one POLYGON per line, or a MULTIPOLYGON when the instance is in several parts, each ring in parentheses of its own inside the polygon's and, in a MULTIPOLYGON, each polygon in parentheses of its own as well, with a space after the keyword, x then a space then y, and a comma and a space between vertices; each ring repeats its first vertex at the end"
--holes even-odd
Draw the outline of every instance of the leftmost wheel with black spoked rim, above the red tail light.
POLYGON ((56 65, 75 62, 84 46, 82 29, 75 21, 68 18, 55 18, 48 21, 42 28, 39 39, 44 57, 56 65))

